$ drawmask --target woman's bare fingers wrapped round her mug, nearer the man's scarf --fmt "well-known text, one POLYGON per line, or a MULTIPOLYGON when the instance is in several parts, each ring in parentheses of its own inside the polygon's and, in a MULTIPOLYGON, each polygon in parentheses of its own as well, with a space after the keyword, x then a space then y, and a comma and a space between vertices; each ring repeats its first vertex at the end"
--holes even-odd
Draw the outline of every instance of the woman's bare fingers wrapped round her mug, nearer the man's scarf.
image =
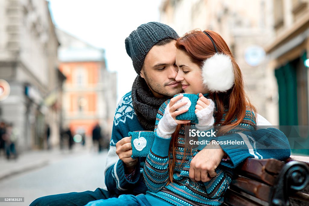
POLYGON ((176 103, 178 100, 180 100, 183 97, 184 95, 182 94, 177 95, 176 97, 173 97, 169 103, 169 113, 177 124, 187 124, 191 122, 191 120, 176 120, 176 116, 188 111, 188 108, 177 110, 179 107, 182 107, 187 104, 187 102, 176 103))

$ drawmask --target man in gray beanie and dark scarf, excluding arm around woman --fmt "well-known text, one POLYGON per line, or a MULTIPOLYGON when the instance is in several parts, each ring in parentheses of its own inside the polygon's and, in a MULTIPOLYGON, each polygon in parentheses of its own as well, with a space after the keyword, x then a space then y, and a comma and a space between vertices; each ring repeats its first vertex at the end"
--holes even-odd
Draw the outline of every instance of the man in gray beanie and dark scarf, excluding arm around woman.
POLYGON ((182 92, 177 75, 176 47, 178 34, 169 26, 150 22, 142 24, 125 40, 125 48, 133 61, 138 76, 132 91, 123 96, 117 106, 112 129, 110 149, 105 170, 109 191, 71 192, 40 197, 33 205, 85 205, 90 201, 116 197, 120 194, 146 192, 140 175, 145 159, 133 160, 129 131, 154 130, 160 105, 182 92))

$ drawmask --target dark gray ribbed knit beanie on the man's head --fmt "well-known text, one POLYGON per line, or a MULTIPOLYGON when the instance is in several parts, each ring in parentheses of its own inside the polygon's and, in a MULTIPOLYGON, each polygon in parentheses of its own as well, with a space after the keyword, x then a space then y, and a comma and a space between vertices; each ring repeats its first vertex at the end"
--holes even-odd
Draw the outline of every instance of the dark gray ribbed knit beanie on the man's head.
POLYGON ((174 29, 159 22, 142 24, 125 39, 125 49, 133 62, 137 74, 140 74, 144 59, 149 50, 164 39, 178 39, 174 29))

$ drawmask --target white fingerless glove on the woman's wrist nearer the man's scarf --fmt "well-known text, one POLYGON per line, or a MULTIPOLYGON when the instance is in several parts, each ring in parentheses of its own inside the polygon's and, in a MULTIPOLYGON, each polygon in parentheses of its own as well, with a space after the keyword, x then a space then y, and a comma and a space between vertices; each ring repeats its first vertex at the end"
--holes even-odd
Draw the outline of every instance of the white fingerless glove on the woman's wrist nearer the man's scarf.
POLYGON ((175 132, 177 125, 178 124, 171 117, 171 114, 169 112, 169 104, 167 104, 164 115, 162 119, 159 121, 156 134, 157 136, 162 137, 164 139, 169 139, 171 138, 172 133, 175 132))

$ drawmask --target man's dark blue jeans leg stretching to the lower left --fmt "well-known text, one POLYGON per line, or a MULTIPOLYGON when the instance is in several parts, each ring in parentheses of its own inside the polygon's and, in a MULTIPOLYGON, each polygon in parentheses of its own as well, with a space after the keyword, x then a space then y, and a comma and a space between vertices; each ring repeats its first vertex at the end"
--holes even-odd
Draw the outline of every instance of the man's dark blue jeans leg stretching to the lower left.
POLYGON ((82 206, 93 200, 108 199, 111 197, 117 197, 117 195, 110 193, 109 191, 103 190, 101 188, 97 188, 95 191, 70 192, 70 193, 40 197, 34 200, 30 204, 30 206, 40 206, 40 205, 82 206))

